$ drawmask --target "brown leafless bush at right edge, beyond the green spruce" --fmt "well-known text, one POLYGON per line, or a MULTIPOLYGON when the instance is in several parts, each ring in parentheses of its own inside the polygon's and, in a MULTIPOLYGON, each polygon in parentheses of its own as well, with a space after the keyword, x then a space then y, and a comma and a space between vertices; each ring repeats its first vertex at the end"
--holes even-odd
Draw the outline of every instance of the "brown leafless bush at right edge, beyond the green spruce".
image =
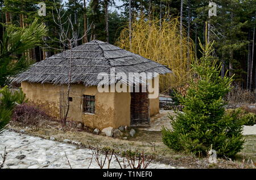
POLYGON ((232 90, 226 96, 227 100, 230 103, 255 103, 255 92, 248 91, 246 89, 242 89, 241 85, 238 83, 234 83, 232 85, 232 90))

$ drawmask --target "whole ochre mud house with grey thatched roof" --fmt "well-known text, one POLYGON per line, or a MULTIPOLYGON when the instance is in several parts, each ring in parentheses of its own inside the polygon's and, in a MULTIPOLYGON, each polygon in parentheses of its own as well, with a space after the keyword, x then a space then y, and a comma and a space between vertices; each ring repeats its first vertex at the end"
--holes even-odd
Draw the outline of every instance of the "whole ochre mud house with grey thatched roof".
MULTIPOLYGON (((15 83, 21 83, 27 98, 41 105, 47 113, 83 122, 86 126, 102 128, 112 126, 142 125, 150 123, 150 116, 159 113, 159 98, 148 98, 146 92, 99 92, 97 86, 110 87, 121 82, 121 78, 109 78, 102 83, 97 76, 117 72, 158 72, 170 73, 171 70, 159 63, 131 53, 106 42, 93 40, 76 46, 72 50, 52 55, 44 61, 31 65, 19 74, 15 83), (71 62, 71 74, 69 73, 71 62), (69 75, 70 81, 69 81, 69 75), (68 84, 71 83, 69 97, 68 84)), ((152 82, 155 80, 152 76, 152 82)), ((135 82, 140 82, 135 77, 135 82)), ((134 84, 126 83, 126 88, 134 84)), ((156 84, 158 87, 158 84, 156 84)), ((158 88, 157 88, 158 89, 158 88)))

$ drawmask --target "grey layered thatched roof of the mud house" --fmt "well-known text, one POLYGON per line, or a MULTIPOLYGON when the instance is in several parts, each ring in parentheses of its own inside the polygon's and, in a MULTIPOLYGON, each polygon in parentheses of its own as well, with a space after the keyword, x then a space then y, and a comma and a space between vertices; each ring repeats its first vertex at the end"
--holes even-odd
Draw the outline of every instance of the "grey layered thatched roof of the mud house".
MULTIPOLYGON (((72 59, 71 83, 83 83, 86 86, 98 85, 102 80, 97 79, 97 75, 102 72, 110 74, 113 67, 115 67, 115 74, 125 72, 127 76, 129 72, 158 72, 159 74, 171 72, 166 66, 141 55, 106 42, 93 40, 76 46, 72 52, 66 50, 44 61, 34 63, 27 71, 19 74, 13 82, 68 84, 70 58, 72 59)), ((104 84, 117 81, 118 79, 115 79, 115 82, 104 84)))

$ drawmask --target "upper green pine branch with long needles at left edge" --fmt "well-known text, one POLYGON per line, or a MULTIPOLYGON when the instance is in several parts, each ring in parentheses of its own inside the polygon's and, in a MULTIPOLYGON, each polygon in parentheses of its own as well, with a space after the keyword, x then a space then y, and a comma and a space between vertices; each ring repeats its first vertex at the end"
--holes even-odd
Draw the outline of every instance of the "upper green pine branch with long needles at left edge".
POLYGON ((40 45, 46 36, 47 28, 34 20, 30 26, 19 28, 6 25, 0 42, 0 87, 7 85, 11 76, 15 76, 30 65, 26 51, 40 45))

